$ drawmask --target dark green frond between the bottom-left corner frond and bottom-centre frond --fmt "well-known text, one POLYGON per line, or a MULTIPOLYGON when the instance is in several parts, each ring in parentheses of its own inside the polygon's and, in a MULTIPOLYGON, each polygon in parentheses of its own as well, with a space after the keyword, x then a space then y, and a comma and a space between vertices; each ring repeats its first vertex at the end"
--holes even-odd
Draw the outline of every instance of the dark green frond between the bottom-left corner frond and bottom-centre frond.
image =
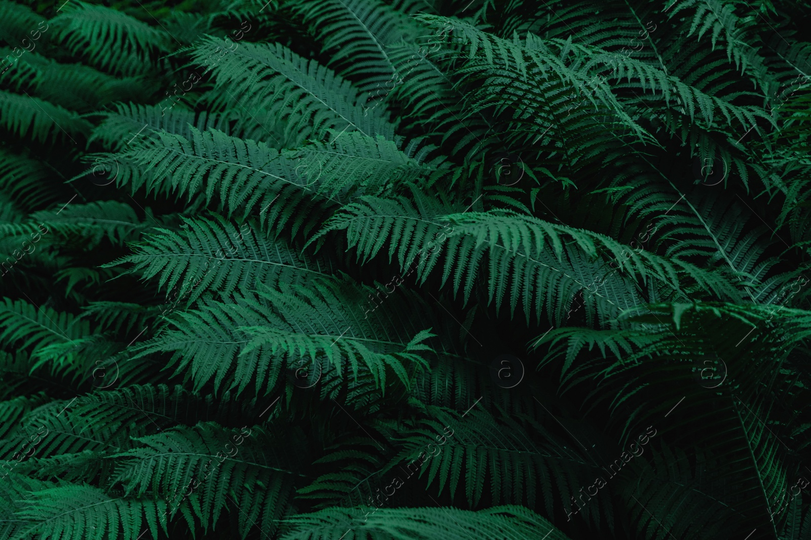
POLYGON ((235 496, 242 538, 255 524, 272 534, 305 461, 300 449, 294 453, 288 446, 300 446, 300 434, 287 435, 260 426, 237 430, 208 422, 138 437, 139 448, 114 456, 121 461, 114 482, 123 483, 127 495, 139 500, 148 500, 144 495, 151 492, 153 504, 166 508, 161 523, 183 506, 184 517, 191 521, 193 512, 206 531, 235 496))

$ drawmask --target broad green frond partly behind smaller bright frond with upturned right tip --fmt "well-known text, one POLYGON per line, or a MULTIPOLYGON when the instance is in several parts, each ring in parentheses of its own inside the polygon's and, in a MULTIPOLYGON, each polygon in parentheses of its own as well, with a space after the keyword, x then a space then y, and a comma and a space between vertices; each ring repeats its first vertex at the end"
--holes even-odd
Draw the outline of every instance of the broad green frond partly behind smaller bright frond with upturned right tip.
MULTIPOLYGON (((263 388, 263 393, 271 393, 285 368, 296 359, 312 358, 328 338, 333 345, 342 341, 350 344, 344 348, 337 345, 334 350, 333 346, 324 349, 340 351, 342 360, 341 369, 334 372, 328 370, 329 364, 324 361, 324 375, 329 371, 330 377, 345 380, 349 378, 348 373, 354 377, 368 374, 366 364, 350 364, 357 361, 358 355, 366 355, 371 368, 378 373, 390 362, 396 376, 393 385, 408 387, 414 371, 424 364, 414 352, 431 353, 431 348, 419 343, 429 334, 419 326, 417 319, 409 317, 414 307, 402 298, 390 298, 383 306, 362 313, 363 304, 371 297, 371 287, 334 280, 311 281, 308 285, 305 288, 279 283, 279 290, 268 289, 260 298, 235 294, 230 303, 203 300, 198 309, 178 313, 170 322, 171 330, 138 347, 136 357, 172 351, 174 355, 169 365, 179 363, 177 372, 186 371, 196 388, 213 378, 218 389, 227 376, 227 380, 232 381, 230 388, 237 388, 238 393, 247 385, 255 385, 258 393, 263 388), (371 317, 369 312, 372 312, 371 317), (328 322, 324 319, 327 313, 328 322), (272 341, 261 345, 260 341, 251 343, 251 334, 246 330, 251 327, 264 328, 266 331, 256 331, 268 334, 272 341), (310 350, 293 347, 297 340, 309 345, 310 350), (274 353, 273 343, 276 347, 285 345, 274 353), (403 361, 405 371, 398 367, 403 361)), ((380 385, 375 386, 382 389, 382 384, 380 381, 380 385)))

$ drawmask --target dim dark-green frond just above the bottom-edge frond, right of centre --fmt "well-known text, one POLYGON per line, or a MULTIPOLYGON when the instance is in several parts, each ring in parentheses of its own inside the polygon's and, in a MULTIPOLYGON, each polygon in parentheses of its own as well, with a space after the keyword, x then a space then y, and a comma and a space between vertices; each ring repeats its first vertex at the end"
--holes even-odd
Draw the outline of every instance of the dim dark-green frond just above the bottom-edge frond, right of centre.
MULTIPOLYGON (((552 516, 558 504, 568 510, 569 498, 584 483, 593 483, 594 474, 603 474, 578 450, 564 450, 565 441, 537 423, 521 425, 526 417, 505 419, 478 410, 463 417, 440 407, 427 410, 434 419, 424 420, 404 434, 404 449, 386 470, 405 470, 409 478, 419 471, 419 477, 425 474, 427 484, 436 483, 439 494, 447 491, 451 500, 457 491, 464 491, 471 508, 478 506, 486 487, 491 487, 488 500, 494 504, 537 508, 541 503, 537 499, 543 499, 543 507, 552 516), (534 442, 530 432, 536 431, 543 432, 550 443, 534 442), (428 450, 429 445, 436 448, 436 454, 428 450), (520 479, 510 472, 515 470, 521 471, 520 479)), ((603 508, 611 507, 606 491, 600 500, 603 508)), ((599 523, 588 507, 584 515, 599 523)))

